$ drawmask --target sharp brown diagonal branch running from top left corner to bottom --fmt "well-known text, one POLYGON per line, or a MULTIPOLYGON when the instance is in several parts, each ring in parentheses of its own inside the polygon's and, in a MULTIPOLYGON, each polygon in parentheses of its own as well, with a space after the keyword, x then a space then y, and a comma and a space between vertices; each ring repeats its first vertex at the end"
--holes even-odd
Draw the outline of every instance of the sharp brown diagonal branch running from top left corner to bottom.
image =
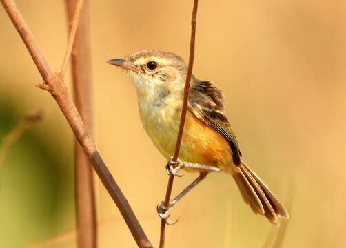
POLYGON ((15 5, 13 0, 0 0, 5 8, 8 16, 10 17, 12 23, 15 28, 21 35, 21 39, 23 39, 26 44, 26 48, 30 52, 34 63, 37 65, 37 69, 39 70, 43 81, 47 85, 49 85, 50 93, 52 94, 55 101, 59 105, 61 112, 65 115, 68 123, 74 135, 77 137, 77 140, 83 147, 85 154, 87 154, 89 160, 92 162, 92 166, 94 167, 96 173, 99 175, 101 182, 108 190, 108 193, 114 200, 114 203, 118 207, 121 215, 123 216, 128 228, 130 229, 134 240, 139 247, 152 247, 150 241, 147 239, 139 221, 137 220, 132 208, 130 207, 128 200, 126 200, 123 192, 116 184, 112 174, 108 167, 103 162, 99 152, 96 149, 92 138, 88 134, 85 129, 85 125, 81 120, 81 116, 77 112, 76 106, 74 105, 70 95, 68 94, 68 90, 65 86, 65 83, 61 80, 57 74, 54 73, 48 62, 45 60, 43 53, 41 52, 39 46, 37 45, 37 41, 34 39, 32 32, 26 25, 21 13, 19 12, 17 6, 15 5))

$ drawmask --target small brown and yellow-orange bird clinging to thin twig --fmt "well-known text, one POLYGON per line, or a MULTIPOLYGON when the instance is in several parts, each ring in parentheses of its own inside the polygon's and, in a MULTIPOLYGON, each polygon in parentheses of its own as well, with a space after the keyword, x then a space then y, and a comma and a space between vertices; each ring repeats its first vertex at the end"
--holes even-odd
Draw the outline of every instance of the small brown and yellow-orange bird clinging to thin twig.
POLYGON ((287 210, 242 160, 238 141, 225 116, 223 92, 210 81, 192 76, 179 161, 174 169, 172 154, 176 145, 187 65, 180 56, 163 50, 143 50, 111 65, 123 68, 132 79, 138 96, 143 127, 154 145, 167 158, 167 173, 179 176, 179 169, 199 172, 199 177, 158 212, 167 220, 172 207, 210 172, 231 174, 251 209, 278 223, 289 218, 287 210), (167 210, 167 211, 163 211, 167 210))

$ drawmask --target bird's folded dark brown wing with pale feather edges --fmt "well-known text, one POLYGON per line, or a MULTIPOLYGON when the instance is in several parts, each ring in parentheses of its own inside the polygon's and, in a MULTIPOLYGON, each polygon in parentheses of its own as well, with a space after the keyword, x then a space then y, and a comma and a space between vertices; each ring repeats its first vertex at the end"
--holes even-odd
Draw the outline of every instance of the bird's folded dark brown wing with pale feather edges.
POLYGON ((238 141, 236 141, 236 136, 231 130, 230 123, 223 113, 225 110, 223 100, 224 96, 221 90, 210 81, 193 79, 189 95, 189 110, 200 121, 203 121, 227 139, 233 152, 233 162, 235 165, 240 165, 241 151, 238 148, 238 141))

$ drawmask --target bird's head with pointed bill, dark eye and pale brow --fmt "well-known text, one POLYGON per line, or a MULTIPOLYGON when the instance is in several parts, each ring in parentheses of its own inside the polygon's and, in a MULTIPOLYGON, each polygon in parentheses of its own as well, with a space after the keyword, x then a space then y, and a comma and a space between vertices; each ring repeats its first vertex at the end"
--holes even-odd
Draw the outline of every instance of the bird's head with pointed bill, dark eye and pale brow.
POLYGON ((180 56, 172 52, 143 50, 107 63, 125 70, 141 96, 183 90, 187 66, 180 56))

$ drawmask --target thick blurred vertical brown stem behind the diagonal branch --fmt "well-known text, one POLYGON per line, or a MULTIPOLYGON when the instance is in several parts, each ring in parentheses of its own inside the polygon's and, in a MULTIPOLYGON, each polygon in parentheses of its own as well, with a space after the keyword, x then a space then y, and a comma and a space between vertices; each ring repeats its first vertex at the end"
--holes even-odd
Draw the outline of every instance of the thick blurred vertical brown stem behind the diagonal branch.
MULTIPOLYGON (((89 34, 89 2, 83 0, 66 0, 68 20, 70 23, 70 41, 66 54, 72 54, 72 77, 74 103, 92 135, 92 65, 89 34), (80 17, 79 17, 80 14, 80 17), (78 29, 77 23, 79 21, 78 29), (77 32, 76 32, 77 30, 77 32), (72 40, 74 38, 74 41, 72 40), (72 52, 72 44, 73 52, 72 52)), ((65 61, 66 60, 65 56, 65 61)), ((61 71, 63 77, 65 71, 61 71)), ((74 149, 74 182, 76 198, 77 243, 81 248, 97 247, 96 200, 92 165, 85 156, 78 141, 74 149)))

